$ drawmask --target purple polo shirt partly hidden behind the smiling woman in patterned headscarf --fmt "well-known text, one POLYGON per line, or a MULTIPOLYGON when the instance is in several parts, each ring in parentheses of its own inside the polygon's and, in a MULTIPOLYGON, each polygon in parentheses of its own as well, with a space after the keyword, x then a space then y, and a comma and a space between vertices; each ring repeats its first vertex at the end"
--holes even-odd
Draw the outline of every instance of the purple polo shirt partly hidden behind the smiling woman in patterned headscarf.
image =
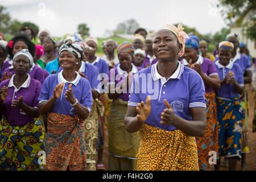
MULTIPOLYGON (((62 67, 59 68, 58 73, 63 70, 62 67)), ((97 90, 98 93, 102 93, 101 88, 101 79, 98 78, 100 73, 98 72, 98 68, 90 63, 86 63, 84 61, 81 62, 81 67, 79 68, 80 72, 84 74, 87 80, 90 83, 90 87, 92 89, 97 90)))

